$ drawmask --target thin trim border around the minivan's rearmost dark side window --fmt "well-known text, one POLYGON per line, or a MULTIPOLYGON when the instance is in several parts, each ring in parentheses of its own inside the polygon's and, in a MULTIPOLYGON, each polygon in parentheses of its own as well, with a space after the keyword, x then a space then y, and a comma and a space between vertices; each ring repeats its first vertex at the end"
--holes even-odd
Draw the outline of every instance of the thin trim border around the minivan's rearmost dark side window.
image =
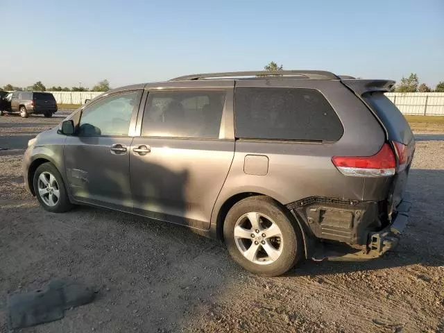
POLYGON ((341 120, 341 117, 339 117, 338 112, 336 112, 334 106, 332 105, 332 103, 330 103, 330 101, 327 99, 327 96, 325 96, 323 94, 323 92, 321 92, 321 90, 315 88, 315 87, 289 87, 289 86, 282 86, 282 87, 264 87, 264 86, 239 86, 239 87, 234 87, 234 94, 233 94, 233 117, 234 117, 234 137, 236 139, 236 141, 249 141, 249 142, 280 142, 280 143, 298 143, 298 144, 334 144, 336 142, 339 142, 340 139, 342 139, 342 137, 344 136, 345 133, 345 127, 344 124, 341 120), (236 89, 309 89, 309 90, 314 90, 316 92, 318 92, 319 94, 321 94, 321 96, 323 96, 323 98, 325 99, 325 101, 327 101, 328 105, 330 105, 330 108, 332 108, 332 110, 334 111, 334 114, 336 114, 336 117, 339 120, 339 123, 341 124, 342 127, 342 134, 341 136, 336 139, 336 140, 316 140, 316 139, 270 139, 270 138, 266 138, 266 139, 262 139, 262 138, 257 138, 257 137, 238 137, 236 134, 237 128, 236 128, 236 105, 235 105, 235 101, 236 101, 236 89))

